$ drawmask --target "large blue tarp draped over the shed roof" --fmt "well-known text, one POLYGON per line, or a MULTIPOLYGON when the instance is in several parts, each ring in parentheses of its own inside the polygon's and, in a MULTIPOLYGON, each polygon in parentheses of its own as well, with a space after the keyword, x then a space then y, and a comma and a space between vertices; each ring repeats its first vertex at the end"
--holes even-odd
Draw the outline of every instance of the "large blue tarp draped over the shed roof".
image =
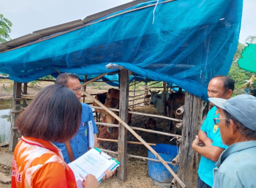
POLYGON ((101 75, 115 63, 207 99, 227 75, 238 44, 243 0, 148 1, 65 34, 0 53, 0 72, 28 82, 61 72, 101 75), (154 20, 154 23, 153 23, 154 20))

